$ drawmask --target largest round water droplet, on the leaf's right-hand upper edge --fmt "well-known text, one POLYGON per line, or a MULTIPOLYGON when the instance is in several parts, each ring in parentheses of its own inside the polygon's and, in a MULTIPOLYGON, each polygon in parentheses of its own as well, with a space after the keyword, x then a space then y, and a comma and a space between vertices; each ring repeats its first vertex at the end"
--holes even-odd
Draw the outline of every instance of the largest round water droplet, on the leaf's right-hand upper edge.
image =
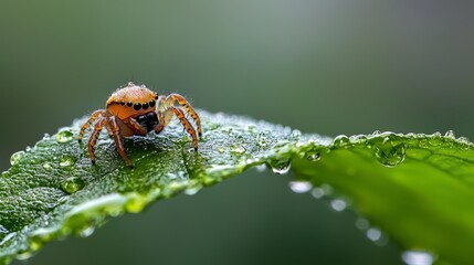
POLYGON ((393 168, 404 160, 404 144, 394 144, 388 137, 386 137, 381 144, 376 144, 373 156, 381 165, 393 168))

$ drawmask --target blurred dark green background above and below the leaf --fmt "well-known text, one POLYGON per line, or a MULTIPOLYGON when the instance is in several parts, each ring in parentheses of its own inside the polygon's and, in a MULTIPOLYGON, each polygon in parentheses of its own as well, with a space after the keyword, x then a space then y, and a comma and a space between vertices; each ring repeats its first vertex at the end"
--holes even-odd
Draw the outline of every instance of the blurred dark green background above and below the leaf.
MULTIPOLYGON (((128 81, 327 136, 474 138, 470 1, 2 1, 0 169, 128 81)), ((352 211, 249 172, 28 264, 401 264, 352 211)), ((21 264, 17 262, 17 264, 21 264)))

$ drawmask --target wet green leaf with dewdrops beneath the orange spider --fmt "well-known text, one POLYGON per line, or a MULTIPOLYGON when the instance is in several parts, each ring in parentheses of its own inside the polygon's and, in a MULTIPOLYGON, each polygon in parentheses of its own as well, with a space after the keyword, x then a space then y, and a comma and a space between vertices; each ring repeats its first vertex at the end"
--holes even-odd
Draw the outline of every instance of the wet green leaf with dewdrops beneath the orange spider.
POLYGON ((86 236, 110 216, 180 192, 194 194, 260 165, 277 173, 292 167, 304 181, 295 187, 315 187, 315 197, 334 189, 335 209, 351 204, 372 232, 383 231, 405 250, 432 253, 440 262, 472 261, 474 152, 467 140, 375 132, 333 141, 244 117, 200 116, 198 152, 177 123, 160 135, 127 138, 133 170, 106 134, 96 146, 97 165, 91 165, 86 145, 76 141, 84 118, 14 153, 0 178, 0 263, 28 258, 55 239, 86 236))

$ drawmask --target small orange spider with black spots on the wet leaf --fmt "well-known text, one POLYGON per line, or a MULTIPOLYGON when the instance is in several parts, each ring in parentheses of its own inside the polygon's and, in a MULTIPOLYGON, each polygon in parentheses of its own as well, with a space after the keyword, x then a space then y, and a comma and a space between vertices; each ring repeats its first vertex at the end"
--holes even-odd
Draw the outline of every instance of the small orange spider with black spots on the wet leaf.
POLYGON ((168 96, 158 96, 145 85, 137 86, 129 82, 124 88, 114 92, 105 104, 105 109, 95 110, 91 117, 81 127, 78 141, 82 142, 85 130, 95 121, 94 130, 88 138, 88 155, 91 161, 95 165, 94 147, 97 142, 98 135, 105 127, 110 137, 114 138, 115 147, 125 160, 125 163, 133 168, 130 159, 125 152, 123 137, 145 136, 155 130, 159 134, 176 115, 192 138, 194 151, 198 150, 198 137, 196 129, 187 119, 183 109, 196 121, 198 134, 201 137, 201 121, 199 115, 179 94, 168 96), (178 106, 175 104, 178 103, 178 106))

